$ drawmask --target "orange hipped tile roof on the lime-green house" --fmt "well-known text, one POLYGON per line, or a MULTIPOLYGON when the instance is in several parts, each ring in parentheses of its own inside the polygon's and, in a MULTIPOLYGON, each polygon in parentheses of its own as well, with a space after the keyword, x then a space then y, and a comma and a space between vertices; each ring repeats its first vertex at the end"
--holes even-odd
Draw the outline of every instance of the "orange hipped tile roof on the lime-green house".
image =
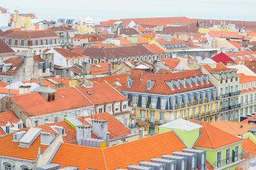
POLYGON ((206 148, 206 149, 218 149, 227 145, 232 145, 237 142, 242 142, 243 139, 229 134, 221 129, 214 127, 206 122, 190 120, 191 122, 199 122, 203 127, 200 128, 201 136, 194 144, 194 147, 206 148))

